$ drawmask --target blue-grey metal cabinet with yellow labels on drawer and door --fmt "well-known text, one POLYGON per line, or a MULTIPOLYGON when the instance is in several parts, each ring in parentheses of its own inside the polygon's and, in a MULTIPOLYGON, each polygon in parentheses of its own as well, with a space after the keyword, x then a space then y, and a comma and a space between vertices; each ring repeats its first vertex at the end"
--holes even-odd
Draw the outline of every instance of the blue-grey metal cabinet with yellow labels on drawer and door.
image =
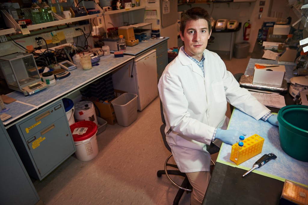
POLYGON ((75 151, 62 100, 8 130, 29 175, 42 180, 75 151))

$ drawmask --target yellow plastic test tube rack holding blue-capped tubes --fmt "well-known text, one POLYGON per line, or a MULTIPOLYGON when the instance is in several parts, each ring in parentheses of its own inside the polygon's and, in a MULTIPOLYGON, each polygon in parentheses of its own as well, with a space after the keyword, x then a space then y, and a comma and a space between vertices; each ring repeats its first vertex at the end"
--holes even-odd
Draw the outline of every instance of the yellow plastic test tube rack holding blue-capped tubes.
POLYGON ((240 149, 238 143, 232 145, 230 160, 239 165, 246 160, 260 154, 264 143, 264 138, 254 134, 243 140, 244 146, 240 149))

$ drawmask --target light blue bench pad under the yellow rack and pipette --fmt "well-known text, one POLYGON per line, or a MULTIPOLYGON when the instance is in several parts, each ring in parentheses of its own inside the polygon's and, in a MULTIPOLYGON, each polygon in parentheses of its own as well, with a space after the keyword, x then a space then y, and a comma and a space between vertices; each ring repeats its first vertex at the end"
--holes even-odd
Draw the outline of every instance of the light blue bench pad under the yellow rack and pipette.
MULTIPOLYGON (((249 170, 253 164, 264 154, 274 153, 277 159, 271 160, 253 172, 274 179, 284 181, 288 179, 297 183, 308 185, 308 162, 294 159, 287 155, 280 147, 279 128, 263 120, 255 120, 253 117, 234 109, 228 129, 241 130, 247 135, 257 134, 264 138, 262 152, 253 158, 239 164, 238 166, 230 160, 231 145, 223 143, 217 158, 217 162, 233 167, 249 170)), ((243 174, 245 173, 243 170, 243 174)))

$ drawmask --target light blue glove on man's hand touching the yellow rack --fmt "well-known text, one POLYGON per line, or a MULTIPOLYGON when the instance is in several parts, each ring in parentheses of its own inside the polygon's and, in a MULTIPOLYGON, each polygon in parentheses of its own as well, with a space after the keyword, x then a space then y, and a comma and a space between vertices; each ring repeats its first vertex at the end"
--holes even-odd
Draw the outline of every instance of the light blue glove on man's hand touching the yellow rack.
POLYGON ((234 144, 239 141, 241 135, 246 136, 246 133, 238 130, 221 130, 218 128, 215 139, 220 139, 224 143, 234 144))

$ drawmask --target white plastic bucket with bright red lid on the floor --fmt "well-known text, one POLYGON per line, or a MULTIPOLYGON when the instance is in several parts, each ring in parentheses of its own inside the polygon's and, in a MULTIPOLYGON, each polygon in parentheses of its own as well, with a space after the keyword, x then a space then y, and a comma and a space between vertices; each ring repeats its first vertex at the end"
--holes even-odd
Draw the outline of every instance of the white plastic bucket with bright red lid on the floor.
POLYGON ((76 146, 76 157, 80 161, 89 161, 98 154, 96 139, 97 126, 91 121, 82 121, 70 126, 76 146))

